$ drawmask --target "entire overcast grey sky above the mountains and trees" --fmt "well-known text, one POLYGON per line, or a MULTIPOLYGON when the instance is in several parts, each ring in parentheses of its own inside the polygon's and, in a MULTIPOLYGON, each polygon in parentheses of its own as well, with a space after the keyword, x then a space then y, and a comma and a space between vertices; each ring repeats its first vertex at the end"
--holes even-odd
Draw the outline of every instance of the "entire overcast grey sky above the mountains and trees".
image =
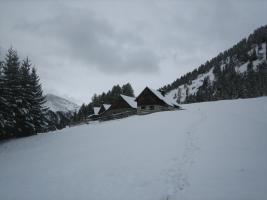
POLYGON ((0 0, 0 54, 12 45, 46 93, 81 104, 171 83, 266 24, 266 0, 0 0))

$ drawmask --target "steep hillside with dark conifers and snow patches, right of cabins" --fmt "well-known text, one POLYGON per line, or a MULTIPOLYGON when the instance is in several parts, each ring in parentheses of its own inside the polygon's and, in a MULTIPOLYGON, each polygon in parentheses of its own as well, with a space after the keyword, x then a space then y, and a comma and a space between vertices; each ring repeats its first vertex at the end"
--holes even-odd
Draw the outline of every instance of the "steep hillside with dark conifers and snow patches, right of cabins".
POLYGON ((267 26, 162 88, 179 103, 267 95, 267 26))

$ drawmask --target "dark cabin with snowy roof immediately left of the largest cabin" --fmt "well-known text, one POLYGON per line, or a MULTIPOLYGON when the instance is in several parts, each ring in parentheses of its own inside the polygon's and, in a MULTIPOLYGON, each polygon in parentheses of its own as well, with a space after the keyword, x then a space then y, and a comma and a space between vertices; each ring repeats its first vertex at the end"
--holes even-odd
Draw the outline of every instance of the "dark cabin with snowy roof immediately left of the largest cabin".
POLYGON ((119 99, 116 100, 111 106, 102 114, 104 118, 112 118, 117 115, 133 115, 136 114, 137 103, 134 97, 120 95, 119 99))

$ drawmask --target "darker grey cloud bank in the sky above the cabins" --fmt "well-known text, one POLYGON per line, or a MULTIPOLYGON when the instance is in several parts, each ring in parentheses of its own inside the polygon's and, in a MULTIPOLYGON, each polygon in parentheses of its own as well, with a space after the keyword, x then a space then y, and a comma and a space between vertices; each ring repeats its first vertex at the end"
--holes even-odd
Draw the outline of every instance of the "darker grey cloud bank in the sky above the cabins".
POLYGON ((91 12, 67 10, 37 23, 18 27, 64 46, 60 54, 105 73, 155 73, 160 59, 144 41, 129 32, 116 32, 107 20, 91 12))

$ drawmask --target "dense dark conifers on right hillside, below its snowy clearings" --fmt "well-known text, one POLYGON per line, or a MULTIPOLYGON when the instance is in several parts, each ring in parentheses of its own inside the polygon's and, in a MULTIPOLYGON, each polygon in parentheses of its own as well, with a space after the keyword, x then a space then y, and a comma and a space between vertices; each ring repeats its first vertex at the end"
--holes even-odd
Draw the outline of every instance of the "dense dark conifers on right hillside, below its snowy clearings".
POLYGON ((236 72, 234 66, 231 65, 226 65, 224 69, 217 66, 213 73, 215 75, 213 84, 209 77, 205 78, 197 93, 188 95, 185 103, 267 95, 266 62, 257 65, 255 69, 252 62, 249 62, 247 71, 244 73, 236 72))

